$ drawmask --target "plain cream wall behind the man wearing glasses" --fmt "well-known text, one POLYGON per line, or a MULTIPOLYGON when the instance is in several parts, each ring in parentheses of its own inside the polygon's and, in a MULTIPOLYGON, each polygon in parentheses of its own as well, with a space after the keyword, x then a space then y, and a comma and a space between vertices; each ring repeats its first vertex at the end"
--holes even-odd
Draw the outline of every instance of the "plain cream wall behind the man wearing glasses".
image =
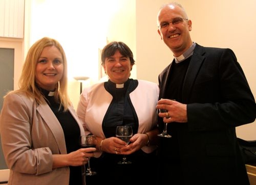
MULTIPOLYGON (((172 52, 157 33, 156 16, 167 0, 136 1, 137 77, 157 83, 172 52), (143 11, 143 13, 142 13, 143 11)), ((180 0, 192 20, 192 40, 203 46, 231 48, 256 97, 256 1, 180 0)), ((256 122, 236 128, 237 136, 256 140, 256 122)))

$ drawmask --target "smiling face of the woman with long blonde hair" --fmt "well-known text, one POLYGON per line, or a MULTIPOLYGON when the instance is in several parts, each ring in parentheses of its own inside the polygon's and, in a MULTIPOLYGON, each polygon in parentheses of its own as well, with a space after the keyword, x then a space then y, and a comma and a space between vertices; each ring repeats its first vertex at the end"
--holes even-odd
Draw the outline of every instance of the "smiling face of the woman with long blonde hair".
POLYGON ((36 84, 45 90, 54 90, 62 78, 63 70, 60 51, 55 46, 45 47, 36 64, 36 84))

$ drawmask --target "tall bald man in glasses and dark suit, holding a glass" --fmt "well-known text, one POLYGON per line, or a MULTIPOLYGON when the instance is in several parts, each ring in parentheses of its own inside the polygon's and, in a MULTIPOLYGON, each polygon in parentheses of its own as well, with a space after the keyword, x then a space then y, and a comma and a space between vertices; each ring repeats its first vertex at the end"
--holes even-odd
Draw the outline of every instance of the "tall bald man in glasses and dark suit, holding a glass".
POLYGON ((158 78, 159 128, 172 135, 159 138, 158 184, 249 185, 235 127, 255 120, 256 103, 234 52, 192 42, 180 4, 162 6, 157 24, 174 54, 158 78))

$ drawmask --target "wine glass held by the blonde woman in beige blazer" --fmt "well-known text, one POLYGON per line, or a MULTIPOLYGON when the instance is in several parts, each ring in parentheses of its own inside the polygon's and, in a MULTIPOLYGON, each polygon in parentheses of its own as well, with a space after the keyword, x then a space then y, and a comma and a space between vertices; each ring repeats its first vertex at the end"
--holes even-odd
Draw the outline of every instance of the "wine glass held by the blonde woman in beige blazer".
MULTIPOLYGON (((95 148, 96 143, 97 143, 97 139, 95 135, 89 134, 89 135, 81 136, 80 144, 82 148, 90 148, 90 147, 95 148)), ((82 175, 84 175, 84 172, 82 173, 82 175)), ((88 157, 88 168, 86 169, 85 175, 96 175, 96 172, 92 171, 90 167, 90 157, 88 157)))

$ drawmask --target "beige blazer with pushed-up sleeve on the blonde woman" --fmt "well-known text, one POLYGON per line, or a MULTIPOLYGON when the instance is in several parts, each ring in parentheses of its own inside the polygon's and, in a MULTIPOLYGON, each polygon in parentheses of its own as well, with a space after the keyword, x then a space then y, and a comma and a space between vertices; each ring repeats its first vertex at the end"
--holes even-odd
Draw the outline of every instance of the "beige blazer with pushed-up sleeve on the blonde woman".
MULTIPOLYGON (((73 107, 81 135, 84 129, 73 107)), ((10 177, 8 185, 68 185, 69 167, 52 169, 52 154, 66 154, 62 127, 44 101, 11 93, 0 114, 2 149, 10 177)))

